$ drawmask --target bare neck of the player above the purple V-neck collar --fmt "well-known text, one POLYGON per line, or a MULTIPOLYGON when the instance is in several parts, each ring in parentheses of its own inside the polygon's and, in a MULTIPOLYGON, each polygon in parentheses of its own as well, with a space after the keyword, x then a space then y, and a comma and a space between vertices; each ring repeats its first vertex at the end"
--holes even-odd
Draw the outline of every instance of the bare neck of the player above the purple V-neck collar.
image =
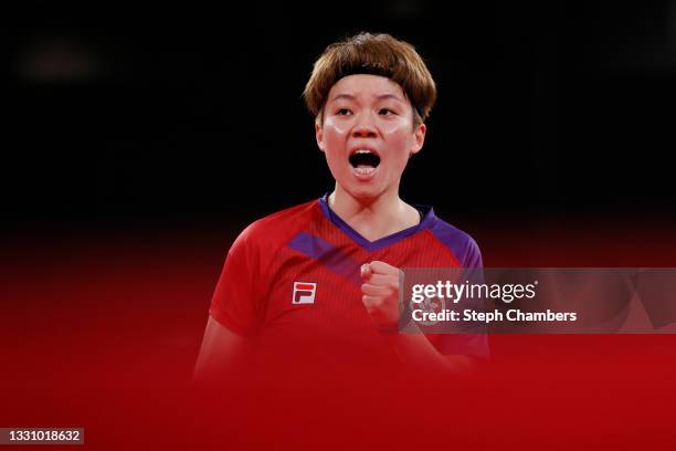
POLYGON ((357 199, 336 185, 328 197, 330 209, 369 241, 376 241, 420 223, 418 210, 397 191, 376 199, 357 199))

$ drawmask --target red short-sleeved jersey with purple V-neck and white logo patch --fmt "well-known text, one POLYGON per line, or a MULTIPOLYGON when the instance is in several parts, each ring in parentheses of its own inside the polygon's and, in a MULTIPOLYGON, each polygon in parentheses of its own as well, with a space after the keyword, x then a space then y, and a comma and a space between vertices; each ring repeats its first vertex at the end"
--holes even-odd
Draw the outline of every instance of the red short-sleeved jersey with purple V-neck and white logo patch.
MULTIPOLYGON (((476 242, 419 207, 421 222, 368 241, 329 208, 327 196, 263 218, 235 240, 210 315, 255 339, 258 363, 275 370, 325 370, 398 361, 361 301, 360 266, 374 260, 404 268, 480 268, 476 242)), ((484 334, 429 336, 442 354, 488 355, 484 334)))

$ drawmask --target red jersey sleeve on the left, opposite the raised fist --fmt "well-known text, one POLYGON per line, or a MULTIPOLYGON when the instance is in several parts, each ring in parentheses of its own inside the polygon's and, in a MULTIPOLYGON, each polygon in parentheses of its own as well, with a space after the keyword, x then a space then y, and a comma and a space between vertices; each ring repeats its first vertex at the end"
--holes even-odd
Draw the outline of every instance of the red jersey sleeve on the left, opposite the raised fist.
POLYGON ((250 337, 263 318, 260 247, 251 227, 234 241, 211 300, 209 314, 233 333, 250 337))

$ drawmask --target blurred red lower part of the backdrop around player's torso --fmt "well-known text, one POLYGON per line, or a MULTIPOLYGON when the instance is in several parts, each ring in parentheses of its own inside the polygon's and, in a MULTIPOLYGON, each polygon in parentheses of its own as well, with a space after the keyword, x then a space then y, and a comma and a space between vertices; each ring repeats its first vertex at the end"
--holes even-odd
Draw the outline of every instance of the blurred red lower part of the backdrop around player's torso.
MULTIPOLYGON (((487 266, 676 266, 664 218, 507 222, 487 266), (638 239, 641 237, 641 239, 638 239)), ((668 449, 675 335, 490 336, 473 380, 190 389, 235 231, 23 235, 2 271, 2 427, 84 427, 91 449, 668 449), (439 447, 439 448, 436 448, 439 447), (464 447, 463 447, 464 448, 464 447)), ((59 448, 59 447, 56 447, 59 448)), ((27 449, 27 448, 22 448, 27 449)))

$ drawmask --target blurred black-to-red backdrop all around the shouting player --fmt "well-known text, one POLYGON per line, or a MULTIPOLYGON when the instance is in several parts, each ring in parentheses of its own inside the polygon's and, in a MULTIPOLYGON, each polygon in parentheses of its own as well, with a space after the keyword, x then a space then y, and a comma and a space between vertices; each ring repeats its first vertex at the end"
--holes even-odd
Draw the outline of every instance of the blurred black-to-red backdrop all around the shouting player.
MULTIPOLYGON (((2 14, 0 426, 147 449, 146 430, 200 423, 168 416, 189 399, 224 255, 253 220, 331 189, 300 94, 325 46, 358 31, 427 62, 439 103, 402 195, 469 232, 487 266, 676 266, 676 1, 631 3, 2 14)), ((522 449, 529 426, 554 445, 663 445, 675 338, 490 336, 493 373, 447 423, 482 419, 472 444, 522 449)))

